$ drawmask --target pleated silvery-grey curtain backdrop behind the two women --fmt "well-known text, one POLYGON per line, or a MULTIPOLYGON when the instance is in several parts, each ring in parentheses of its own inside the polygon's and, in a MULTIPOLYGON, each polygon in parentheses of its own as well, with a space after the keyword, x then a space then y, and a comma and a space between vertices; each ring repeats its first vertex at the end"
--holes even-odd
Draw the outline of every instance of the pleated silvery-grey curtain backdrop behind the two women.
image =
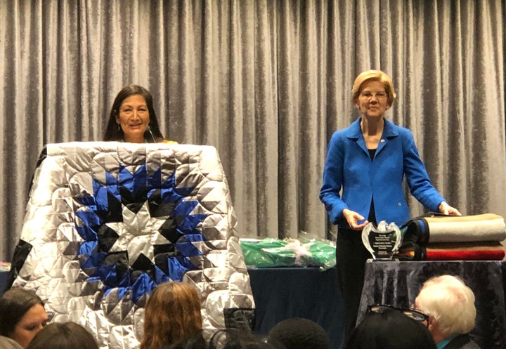
POLYGON ((0 0, 0 18, 0 260, 44 145, 101 140, 131 83, 166 138, 218 149, 241 237, 329 236, 327 142, 368 69, 448 202, 506 216, 505 1, 0 0))

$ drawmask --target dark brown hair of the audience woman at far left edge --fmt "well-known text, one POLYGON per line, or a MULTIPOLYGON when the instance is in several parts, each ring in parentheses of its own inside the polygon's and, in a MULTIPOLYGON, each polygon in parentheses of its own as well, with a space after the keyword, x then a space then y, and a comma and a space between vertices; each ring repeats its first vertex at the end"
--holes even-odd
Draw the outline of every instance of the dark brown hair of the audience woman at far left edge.
POLYGON ((10 336, 26 312, 37 304, 44 307, 33 291, 20 287, 5 291, 0 298, 0 336, 10 336))

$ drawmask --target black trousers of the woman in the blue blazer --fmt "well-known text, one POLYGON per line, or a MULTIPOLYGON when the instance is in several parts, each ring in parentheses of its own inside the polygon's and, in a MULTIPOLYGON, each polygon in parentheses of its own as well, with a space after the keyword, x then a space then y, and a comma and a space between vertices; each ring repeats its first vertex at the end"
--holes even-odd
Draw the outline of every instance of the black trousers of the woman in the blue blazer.
POLYGON ((362 243, 362 232, 339 229, 336 241, 336 267, 344 301, 345 343, 355 328, 362 296, 365 261, 372 258, 362 243))

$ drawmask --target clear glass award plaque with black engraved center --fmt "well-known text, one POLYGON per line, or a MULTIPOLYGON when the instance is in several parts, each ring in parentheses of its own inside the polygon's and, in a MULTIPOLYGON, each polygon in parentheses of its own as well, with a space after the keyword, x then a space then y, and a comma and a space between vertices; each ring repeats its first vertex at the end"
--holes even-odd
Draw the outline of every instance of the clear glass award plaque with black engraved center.
POLYGON ((387 224, 384 220, 377 227, 369 223, 362 230, 362 242, 374 260, 394 259, 394 253, 401 246, 401 239, 401 230, 397 225, 387 224))

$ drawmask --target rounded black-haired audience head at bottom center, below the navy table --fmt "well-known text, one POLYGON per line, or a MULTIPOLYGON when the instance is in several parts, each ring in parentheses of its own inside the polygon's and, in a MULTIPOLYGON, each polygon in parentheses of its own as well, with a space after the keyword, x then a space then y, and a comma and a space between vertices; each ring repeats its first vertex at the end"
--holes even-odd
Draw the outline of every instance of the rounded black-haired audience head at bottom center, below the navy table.
POLYGON ((268 334, 268 343, 284 349, 328 349, 330 339, 316 322, 293 317, 278 322, 268 334))

